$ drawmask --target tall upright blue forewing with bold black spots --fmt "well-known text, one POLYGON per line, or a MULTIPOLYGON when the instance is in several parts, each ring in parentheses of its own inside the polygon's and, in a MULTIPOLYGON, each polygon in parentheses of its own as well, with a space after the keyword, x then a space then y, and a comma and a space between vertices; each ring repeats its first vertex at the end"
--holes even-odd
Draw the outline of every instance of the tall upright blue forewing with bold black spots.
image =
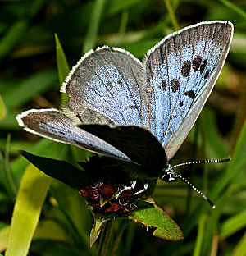
POLYGON ((144 59, 150 130, 167 159, 180 148, 212 91, 230 48, 233 25, 208 21, 167 36, 144 59))

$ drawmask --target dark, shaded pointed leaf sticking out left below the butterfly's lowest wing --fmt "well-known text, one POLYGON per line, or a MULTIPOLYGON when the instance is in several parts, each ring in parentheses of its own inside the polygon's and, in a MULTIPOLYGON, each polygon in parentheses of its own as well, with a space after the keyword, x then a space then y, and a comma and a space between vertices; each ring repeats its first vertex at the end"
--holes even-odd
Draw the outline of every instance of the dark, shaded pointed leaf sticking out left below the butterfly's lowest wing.
POLYGON ((80 190, 84 185, 88 185, 87 173, 66 161, 43 158, 26 151, 21 151, 20 153, 34 164, 35 167, 39 168, 40 171, 64 182, 66 185, 70 185, 76 190, 80 190))

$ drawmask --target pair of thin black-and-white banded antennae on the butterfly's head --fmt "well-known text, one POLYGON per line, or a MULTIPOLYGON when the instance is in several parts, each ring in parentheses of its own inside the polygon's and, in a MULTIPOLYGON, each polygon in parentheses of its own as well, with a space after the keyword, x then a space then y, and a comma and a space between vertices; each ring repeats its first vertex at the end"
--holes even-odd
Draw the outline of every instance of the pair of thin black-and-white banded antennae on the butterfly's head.
MULTIPOLYGON (((172 169, 174 169, 175 167, 183 167, 185 165, 198 164, 198 163, 210 163, 210 162, 221 163, 221 162, 230 162, 230 161, 231 161, 231 158, 215 159, 215 160, 200 160, 200 161, 198 160, 198 161, 193 161, 193 162, 182 162, 180 164, 173 166, 172 169)), ((207 198, 207 196, 205 194, 203 194, 200 190, 198 190, 192 183, 187 181, 183 176, 180 176, 180 174, 176 174, 176 175, 178 178, 180 178, 180 180, 185 181, 185 183, 190 185, 193 188, 193 190, 198 192, 198 194, 202 195, 203 199, 205 199, 207 201, 207 203, 209 203, 213 209, 216 208, 215 204, 212 203, 212 201, 209 198, 207 198)))

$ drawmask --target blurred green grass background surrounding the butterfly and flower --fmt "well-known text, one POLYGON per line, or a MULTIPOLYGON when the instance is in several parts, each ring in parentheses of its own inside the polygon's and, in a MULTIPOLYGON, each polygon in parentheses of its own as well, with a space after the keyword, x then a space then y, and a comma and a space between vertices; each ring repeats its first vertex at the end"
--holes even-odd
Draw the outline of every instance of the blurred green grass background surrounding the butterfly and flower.
MULTIPOLYGON (((40 182, 33 184, 28 175, 40 176, 39 171, 17 152, 24 149, 71 162, 89 156, 82 149, 26 133, 16 122, 16 115, 24 110, 59 108, 62 100, 66 100, 59 88, 62 74, 68 68, 65 65, 62 71, 61 67, 57 71, 57 53, 61 59, 62 51, 59 44, 56 49, 55 34, 71 68, 90 48, 105 44, 125 48, 142 59, 167 34, 186 25, 212 20, 231 21, 235 25, 229 57, 206 107, 171 163, 232 157, 230 163, 178 170, 211 197, 216 209, 209 208, 180 181, 159 182, 153 198, 178 223, 185 239, 160 240, 152 236, 152 231, 130 223, 116 254, 246 255, 246 2, 243 0, 0 1, 0 252, 7 246, 16 194, 25 173, 24 196, 19 202, 25 205, 28 201, 25 185, 29 191, 40 188, 36 208, 27 208, 25 212, 27 216, 30 214, 33 231, 42 207, 30 255, 95 254, 94 249, 89 249, 93 220, 84 199, 47 177, 42 176, 40 182)), ((64 57, 63 61, 66 63, 64 57)), ((17 231, 12 233, 25 231, 26 223, 20 220, 18 224, 17 231)), ((20 243, 25 238, 20 237, 20 243)), ((11 240, 9 246, 17 253, 8 255, 25 255, 16 240, 11 240)))

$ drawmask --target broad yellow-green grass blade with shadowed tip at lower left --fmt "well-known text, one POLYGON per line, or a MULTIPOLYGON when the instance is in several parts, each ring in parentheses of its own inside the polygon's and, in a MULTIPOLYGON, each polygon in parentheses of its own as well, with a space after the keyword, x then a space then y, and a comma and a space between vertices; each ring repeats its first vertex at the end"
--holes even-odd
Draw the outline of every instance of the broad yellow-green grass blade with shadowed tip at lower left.
POLYGON ((25 256, 52 179, 33 165, 26 168, 11 219, 6 256, 25 256))

